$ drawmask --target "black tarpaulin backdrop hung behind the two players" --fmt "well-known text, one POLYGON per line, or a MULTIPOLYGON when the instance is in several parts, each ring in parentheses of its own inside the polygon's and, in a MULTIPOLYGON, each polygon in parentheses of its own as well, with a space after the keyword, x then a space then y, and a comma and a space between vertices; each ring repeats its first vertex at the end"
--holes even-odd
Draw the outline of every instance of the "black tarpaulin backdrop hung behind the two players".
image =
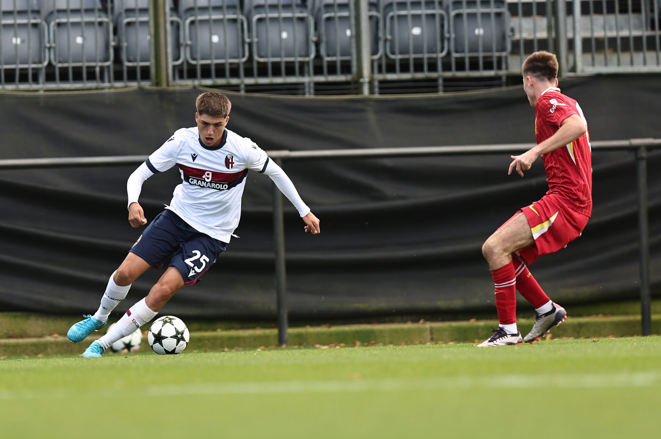
MULTIPOLYGON (((659 76, 564 81, 592 140, 661 137, 659 76)), ((200 90, 0 95, 0 158, 149 154, 194 125, 200 90)), ((229 128, 262 148, 407 148, 534 141, 520 87, 379 98, 231 94, 229 128)), ((286 202, 288 302, 294 318, 484 310, 493 288, 484 240, 547 185, 541 160, 508 176, 508 154, 290 162, 288 174, 321 219, 303 234, 286 202)), ((594 215, 582 238, 531 271, 564 303, 639 294, 637 199, 631 152, 594 152, 594 215)), ((650 154, 652 283, 661 284, 661 155, 650 154)), ((141 230, 128 224, 134 166, 0 171, 0 310, 93 312, 108 276, 141 230)), ((151 220, 180 182, 147 180, 151 220)), ((179 316, 275 316, 270 180, 251 172, 233 239, 202 281, 163 308, 179 316)), ((147 294, 151 269, 118 307, 147 294)), ((495 311, 495 310, 494 310, 495 311)))

